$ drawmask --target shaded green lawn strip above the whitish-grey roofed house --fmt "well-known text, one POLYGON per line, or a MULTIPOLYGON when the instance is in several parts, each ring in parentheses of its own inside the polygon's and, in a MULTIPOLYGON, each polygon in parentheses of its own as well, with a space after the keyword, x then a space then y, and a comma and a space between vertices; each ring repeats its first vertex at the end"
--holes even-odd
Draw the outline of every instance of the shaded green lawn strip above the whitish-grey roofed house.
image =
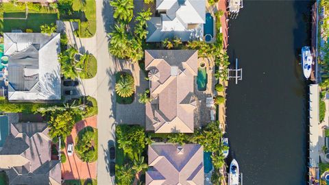
MULTIPOLYGON (((22 17, 25 16, 25 13, 23 12, 11 12, 11 13, 5 13, 4 18, 7 17, 22 17)), ((36 14, 36 13, 30 13, 27 16, 26 20, 21 19, 4 19, 3 21, 3 32, 11 32, 12 29, 21 29, 23 32, 25 32, 25 29, 32 29, 33 32, 40 32, 40 25, 51 23, 56 24, 56 20, 58 19, 57 14, 36 14)))

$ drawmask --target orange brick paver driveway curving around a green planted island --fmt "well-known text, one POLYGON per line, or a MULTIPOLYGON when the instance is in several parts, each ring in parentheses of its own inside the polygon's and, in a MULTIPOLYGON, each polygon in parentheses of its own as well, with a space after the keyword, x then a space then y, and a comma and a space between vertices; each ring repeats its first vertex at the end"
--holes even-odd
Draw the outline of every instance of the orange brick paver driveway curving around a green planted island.
POLYGON ((73 156, 67 156, 67 143, 74 143, 77 133, 86 126, 97 128, 97 116, 91 116, 85 120, 79 121, 73 127, 71 135, 66 138, 66 146, 64 153, 66 162, 62 164, 62 179, 63 180, 77 180, 77 179, 96 179, 97 177, 97 162, 82 162, 75 153, 73 156))

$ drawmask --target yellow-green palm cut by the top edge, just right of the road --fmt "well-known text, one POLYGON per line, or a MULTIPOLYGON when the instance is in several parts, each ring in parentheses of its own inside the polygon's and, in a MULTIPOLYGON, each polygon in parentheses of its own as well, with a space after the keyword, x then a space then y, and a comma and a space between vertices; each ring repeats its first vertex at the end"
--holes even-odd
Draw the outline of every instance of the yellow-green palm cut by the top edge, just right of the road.
POLYGON ((114 18, 119 18, 119 20, 126 23, 132 21, 132 17, 134 16, 134 3, 132 0, 114 0, 110 1, 110 5, 114 8, 114 18))

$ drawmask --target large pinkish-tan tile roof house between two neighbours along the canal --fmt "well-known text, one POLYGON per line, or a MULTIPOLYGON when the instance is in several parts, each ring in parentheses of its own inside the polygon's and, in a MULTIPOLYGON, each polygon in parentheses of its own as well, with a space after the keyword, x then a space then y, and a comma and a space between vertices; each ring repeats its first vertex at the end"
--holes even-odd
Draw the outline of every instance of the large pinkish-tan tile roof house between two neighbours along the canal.
POLYGON ((156 133, 193 133, 197 98, 197 51, 146 50, 150 103, 145 105, 145 129, 156 133))

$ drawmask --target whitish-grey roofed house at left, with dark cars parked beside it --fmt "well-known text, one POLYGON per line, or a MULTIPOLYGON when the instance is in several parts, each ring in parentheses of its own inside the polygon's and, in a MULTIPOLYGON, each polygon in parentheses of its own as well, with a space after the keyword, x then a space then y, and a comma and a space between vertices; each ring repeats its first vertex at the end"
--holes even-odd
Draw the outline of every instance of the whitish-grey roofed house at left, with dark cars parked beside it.
POLYGON ((61 99, 60 34, 4 33, 10 101, 61 99))

